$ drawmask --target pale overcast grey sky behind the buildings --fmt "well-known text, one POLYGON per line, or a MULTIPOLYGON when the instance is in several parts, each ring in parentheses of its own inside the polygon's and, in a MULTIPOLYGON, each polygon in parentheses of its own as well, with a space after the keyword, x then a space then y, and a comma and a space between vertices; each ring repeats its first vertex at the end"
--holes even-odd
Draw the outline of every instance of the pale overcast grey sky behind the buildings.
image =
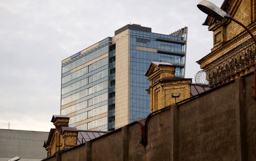
MULTIPOLYGON (((212 0, 221 6, 223 0, 212 0)), ((186 78, 212 48, 199 0, 0 1, 0 129, 49 131, 60 114, 61 60, 127 24, 170 34, 188 26, 186 78)))

